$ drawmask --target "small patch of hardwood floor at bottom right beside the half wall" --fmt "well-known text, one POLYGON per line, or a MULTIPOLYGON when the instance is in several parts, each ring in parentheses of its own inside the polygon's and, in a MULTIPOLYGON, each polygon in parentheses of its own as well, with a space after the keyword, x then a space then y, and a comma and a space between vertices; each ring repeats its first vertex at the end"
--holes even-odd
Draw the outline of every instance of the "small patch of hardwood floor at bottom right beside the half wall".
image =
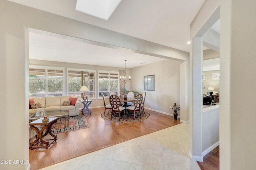
POLYGON ((220 148, 214 148, 204 156, 204 161, 196 161, 201 170, 219 170, 220 169, 220 148))

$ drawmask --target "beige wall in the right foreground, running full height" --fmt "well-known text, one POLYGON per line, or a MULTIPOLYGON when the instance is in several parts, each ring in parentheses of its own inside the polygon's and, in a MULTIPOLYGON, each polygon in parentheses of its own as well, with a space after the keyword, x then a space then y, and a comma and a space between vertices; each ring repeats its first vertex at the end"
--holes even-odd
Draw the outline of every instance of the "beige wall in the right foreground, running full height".
POLYGON ((220 170, 256 167, 255 8, 255 0, 221 1, 220 170))

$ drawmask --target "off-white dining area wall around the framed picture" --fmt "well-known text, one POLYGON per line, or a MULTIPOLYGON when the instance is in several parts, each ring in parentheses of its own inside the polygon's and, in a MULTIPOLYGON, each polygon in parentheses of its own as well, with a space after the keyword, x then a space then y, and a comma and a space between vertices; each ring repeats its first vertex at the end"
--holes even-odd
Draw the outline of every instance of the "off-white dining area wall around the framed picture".
POLYGON ((180 62, 164 60, 131 68, 130 73, 130 90, 141 94, 146 92, 144 107, 173 116, 173 109, 170 109, 170 106, 175 102, 180 104, 180 62), (144 76, 152 74, 155 75, 155 91, 144 90, 144 76))

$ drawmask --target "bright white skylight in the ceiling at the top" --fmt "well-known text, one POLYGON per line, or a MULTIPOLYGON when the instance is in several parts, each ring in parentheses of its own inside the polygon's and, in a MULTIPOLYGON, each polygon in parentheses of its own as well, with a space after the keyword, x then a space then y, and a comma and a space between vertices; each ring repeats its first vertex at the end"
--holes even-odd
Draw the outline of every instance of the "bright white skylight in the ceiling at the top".
POLYGON ((76 11, 108 20, 122 0, 77 0, 76 11))

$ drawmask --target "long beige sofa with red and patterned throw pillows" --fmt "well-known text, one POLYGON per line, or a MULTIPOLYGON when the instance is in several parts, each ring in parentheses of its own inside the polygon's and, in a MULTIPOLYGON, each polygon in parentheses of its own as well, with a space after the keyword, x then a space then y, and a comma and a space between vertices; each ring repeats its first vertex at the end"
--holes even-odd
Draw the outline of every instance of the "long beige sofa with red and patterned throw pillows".
MULTIPOLYGON (((77 96, 72 96, 77 97, 77 96)), ((32 98, 30 98, 32 99, 32 98)), ((60 111, 60 110, 69 110, 69 116, 79 115, 79 107, 81 103, 76 100, 75 106, 62 106, 64 101, 70 100, 70 96, 54 96, 54 97, 44 97, 44 98, 34 98, 35 103, 40 103, 41 107, 44 107, 44 111, 60 111)), ((29 114, 36 113, 37 109, 29 109, 29 114)), ((42 108, 39 108, 39 111, 42 111, 42 108)))

